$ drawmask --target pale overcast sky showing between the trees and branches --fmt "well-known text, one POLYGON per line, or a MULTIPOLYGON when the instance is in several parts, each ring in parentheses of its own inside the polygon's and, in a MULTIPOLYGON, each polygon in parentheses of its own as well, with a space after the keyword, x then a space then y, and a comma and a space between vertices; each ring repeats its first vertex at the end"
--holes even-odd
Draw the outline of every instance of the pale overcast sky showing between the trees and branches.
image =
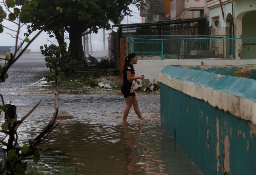
MULTIPOLYGON (((140 11, 137 9, 137 7, 135 5, 130 5, 129 8, 133 11, 132 12, 132 17, 124 17, 124 20, 121 22, 121 24, 127 24, 128 23, 140 23, 141 22, 141 18, 140 18, 140 11)), ((13 24, 12 22, 6 22, 3 21, 2 22, 4 26, 8 26, 8 28, 11 28, 13 30, 17 29, 17 26, 15 24, 13 24)), ((113 25, 113 23, 110 22, 111 25, 113 25)), ((24 38, 24 33, 26 32, 26 28, 22 28, 21 32, 20 32, 20 37, 24 38)), ((116 31, 116 29, 115 29, 116 31)), ((108 33, 110 33, 111 31, 105 31, 105 50, 108 51, 108 33)), ((12 36, 14 36, 16 33, 13 31, 8 31, 6 28, 4 28, 4 32, 0 34, 0 46, 14 46, 15 45, 15 39, 12 38, 12 36, 10 36, 9 34, 11 34, 12 36)), ((68 36, 68 33, 65 34, 66 36, 68 36)), ((92 37, 92 50, 93 51, 97 51, 97 52, 103 52, 103 30, 100 29, 99 32, 97 34, 91 34, 92 37)), ((29 37, 29 39, 31 39, 32 37, 29 37)), ((48 35, 46 33, 41 33, 32 44, 30 44, 28 49, 31 49, 31 52, 39 52, 40 51, 40 46, 44 45, 44 44, 52 44, 55 43, 56 44, 56 39, 55 38, 49 38, 48 35), (49 40, 49 41, 48 41, 49 40)), ((68 39, 65 40, 67 43, 69 43, 68 39)), ((20 43, 21 40, 18 41, 18 43, 20 43)), ((91 50, 89 48, 89 50, 91 50)))

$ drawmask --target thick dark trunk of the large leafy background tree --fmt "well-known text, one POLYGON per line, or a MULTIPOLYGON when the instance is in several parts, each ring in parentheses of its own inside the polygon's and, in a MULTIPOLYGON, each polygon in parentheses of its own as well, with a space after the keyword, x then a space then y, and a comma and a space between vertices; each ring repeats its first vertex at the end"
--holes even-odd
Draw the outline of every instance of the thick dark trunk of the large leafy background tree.
POLYGON ((69 48, 73 58, 77 59, 81 63, 84 63, 84 51, 82 43, 83 32, 84 31, 77 24, 74 24, 69 28, 69 48))

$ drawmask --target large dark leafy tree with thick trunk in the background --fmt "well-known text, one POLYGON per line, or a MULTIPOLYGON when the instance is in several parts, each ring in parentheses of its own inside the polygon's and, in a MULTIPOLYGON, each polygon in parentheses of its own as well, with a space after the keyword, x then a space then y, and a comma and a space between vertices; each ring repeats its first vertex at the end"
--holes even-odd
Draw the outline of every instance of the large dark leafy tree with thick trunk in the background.
MULTIPOLYGON (((41 21, 52 15, 52 9, 60 6, 63 12, 62 20, 45 28, 50 35, 54 34, 59 44, 62 44, 61 31, 69 33, 69 49, 78 61, 84 60, 82 36, 97 33, 100 28, 110 29, 109 20, 118 21, 120 16, 131 15, 130 4, 137 7, 143 5, 142 0, 38 0, 40 6, 36 9, 31 29, 35 29, 41 21), (88 32, 85 32, 85 31, 88 32)), ((57 17, 56 17, 57 18, 57 17)), ((44 27, 43 25, 41 27, 44 27)))

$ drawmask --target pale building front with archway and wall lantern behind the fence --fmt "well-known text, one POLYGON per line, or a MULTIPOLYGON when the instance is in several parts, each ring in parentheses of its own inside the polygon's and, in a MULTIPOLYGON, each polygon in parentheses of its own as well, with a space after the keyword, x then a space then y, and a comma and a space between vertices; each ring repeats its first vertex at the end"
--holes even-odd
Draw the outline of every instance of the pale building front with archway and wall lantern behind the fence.
POLYGON ((256 1, 251 0, 208 0, 209 27, 211 35, 234 35, 236 39, 236 59, 246 58, 254 54, 256 49, 254 38, 256 24, 256 1))

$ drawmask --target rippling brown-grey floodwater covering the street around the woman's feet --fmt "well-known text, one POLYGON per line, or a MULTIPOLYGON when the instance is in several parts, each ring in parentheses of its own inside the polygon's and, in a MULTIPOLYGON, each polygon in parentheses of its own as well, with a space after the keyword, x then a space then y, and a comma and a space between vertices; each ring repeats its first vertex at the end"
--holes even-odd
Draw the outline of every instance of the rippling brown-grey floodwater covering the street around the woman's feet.
MULTIPOLYGON (((42 99, 18 130, 20 145, 35 138, 54 113, 54 93, 45 93, 36 83, 47 70, 40 55, 24 56, 0 84, 5 103, 17 106, 19 119, 42 99)), ((42 174, 63 169, 67 174, 202 174, 161 125, 160 95, 137 93, 136 97, 142 115, 150 121, 139 120, 132 108, 128 122, 122 122, 121 95, 60 94, 59 111, 68 111, 74 119, 57 120, 60 124, 51 139, 40 145, 60 148, 49 154, 66 153, 42 155, 41 164, 47 164, 42 174)))

